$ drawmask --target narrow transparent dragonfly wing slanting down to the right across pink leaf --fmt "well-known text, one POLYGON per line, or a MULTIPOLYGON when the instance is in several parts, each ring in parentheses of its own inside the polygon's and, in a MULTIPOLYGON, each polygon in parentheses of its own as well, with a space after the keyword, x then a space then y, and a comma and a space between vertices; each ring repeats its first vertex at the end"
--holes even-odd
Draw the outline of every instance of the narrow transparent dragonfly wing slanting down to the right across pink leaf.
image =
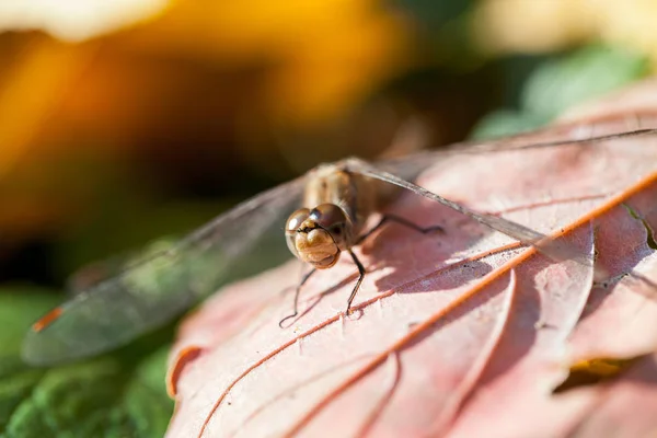
POLYGON ((566 260, 575 260, 581 264, 592 266, 593 261, 591 257, 583 254, 579 250, 570 246, 564 242, 553 240, 545 234, 532 230, 531 228, 525 227, 520 223, 510 221, 508 219, 500 218, 498 216, 486 215, 471 210, 470 208, 462 206, 458 203, 443 198, 440 195, 436 195, 433 192, 427 191, 416 184, 413 184, 406 180, 403 180, 396 175, 388 173, 383 170, 374 168, 358 159, 349 159, 347 168, 350 172, 359 173, 365 176, 369 176, 376 180, 380 180, 396 186, 406 188, 420 196, 435 200, 449 208, 452 208, 460 214, 463 214, 484 226, 492 228, 493 230, 499 231, 512 239, 516 239, 527 245, 534 246, 541 253, 545 254, 550 258, 557 262, 566 260))

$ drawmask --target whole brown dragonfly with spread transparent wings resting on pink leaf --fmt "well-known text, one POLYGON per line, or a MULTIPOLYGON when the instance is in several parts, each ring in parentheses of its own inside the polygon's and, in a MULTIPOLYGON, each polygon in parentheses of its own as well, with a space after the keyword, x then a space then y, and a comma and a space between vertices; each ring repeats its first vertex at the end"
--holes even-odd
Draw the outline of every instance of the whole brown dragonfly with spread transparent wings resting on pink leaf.
MULTIPOLYGON (((293 212, 284 229, 288 249, 299 260, 310 264, 312 270, 298 285, 292 310, 279 325, 283 327, 285 321, 298 315, 299 293, 310 275, 318 269, 331 268, 343 252, 351 256, 359 272, 347 300, 345 312, 348 313, 365 276, 362 264, 351 251, 354 246, 390 222, 424 233, 439 230, 439 227, 423 229, 406 219, 383 215, 377 226, 364 231, 368 217, 379 209, 379 201, 391 197, 391 191, 385 187, 399 187, 397 192, 400 188, 406 189, 447 206, 525 245, 533 246, 554 261, 576 260, 592 266, 593 261, 589 256, 563 241, 499 216, 472 210, 412 181, 437 160, 453 153, 595 145, 655 134, 657 129, 639 129, 576 141, 510 146, 504 142, 473 143, 448 150, 416 152, 374 164, 350 158, 320 165, 239 204, 180 241, 166 244, 154 253, 150 251, 115 276, 95 283, 53 309, 26 333, 22 357, 34 366, 72 361, 114 349, 165 324, 215 292, 234 274, 235 268, 249 266, 251 250, 264 247, 261 245, 267 237, 280 237, 283 218, 290 211, 293 212), (303 208, 293 210, 300 205, 303 208)), ((281 244, 274 246, 285 249, 281 244)), ((289 252, 287 255, 289 257, 289 252)))

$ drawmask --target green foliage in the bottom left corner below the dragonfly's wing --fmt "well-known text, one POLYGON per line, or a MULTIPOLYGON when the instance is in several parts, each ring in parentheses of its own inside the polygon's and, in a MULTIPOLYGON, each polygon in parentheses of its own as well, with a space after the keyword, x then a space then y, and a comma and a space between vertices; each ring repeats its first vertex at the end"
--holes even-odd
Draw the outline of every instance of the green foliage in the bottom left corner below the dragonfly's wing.
POLYGON ((157 437, 173 411, 164 385, 171 327, 91 360, 36 369, 20 359, 23 334, 58 301, 0 290, 0 437, 157 437))

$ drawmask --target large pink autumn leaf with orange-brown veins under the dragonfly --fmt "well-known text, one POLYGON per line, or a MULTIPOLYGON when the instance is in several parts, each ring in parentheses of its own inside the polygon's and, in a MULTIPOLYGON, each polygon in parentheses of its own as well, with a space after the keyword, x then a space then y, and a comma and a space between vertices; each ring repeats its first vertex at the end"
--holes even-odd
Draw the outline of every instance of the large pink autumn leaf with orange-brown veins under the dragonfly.
POLYGON ((504 151, 439 155, 418 178, 567 241, 595 268, 551 261, 404 194, 389 211, 445 232, 391 224, 367 240, 350 316, 343 311, 356 268, 345 257, 311 277, 300 315, 283 330, 297 263, 224 288, 185 321, 171 359, 168 436, 654 431, 656 136, 520 148, 654 127, 643 95, 641 106, 619 96, 615 114, 488 145, 504 151), (604 383, 553 393, 570 366, 598 358, 633 360, 604 383))

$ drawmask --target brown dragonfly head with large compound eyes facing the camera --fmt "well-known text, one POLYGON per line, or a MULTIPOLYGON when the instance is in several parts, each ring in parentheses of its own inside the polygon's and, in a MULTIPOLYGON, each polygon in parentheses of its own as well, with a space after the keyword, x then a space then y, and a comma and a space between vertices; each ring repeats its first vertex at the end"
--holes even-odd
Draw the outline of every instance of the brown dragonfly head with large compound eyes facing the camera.
POLYGON ((301 208, 285 226, 288 247, 302 262, 318 269, 330 268, 346 249, 348 223, 345 211, 335 204, 301 208))

